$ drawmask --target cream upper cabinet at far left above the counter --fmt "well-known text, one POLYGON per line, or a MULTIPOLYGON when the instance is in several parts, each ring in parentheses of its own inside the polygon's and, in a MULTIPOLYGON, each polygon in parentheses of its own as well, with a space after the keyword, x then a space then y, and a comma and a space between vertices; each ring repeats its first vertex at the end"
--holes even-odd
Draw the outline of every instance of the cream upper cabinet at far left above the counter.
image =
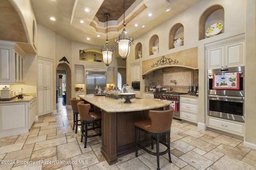
POLYGON ((15 43, 0 41, 0 84, 24 83, 24 55, 15 43))

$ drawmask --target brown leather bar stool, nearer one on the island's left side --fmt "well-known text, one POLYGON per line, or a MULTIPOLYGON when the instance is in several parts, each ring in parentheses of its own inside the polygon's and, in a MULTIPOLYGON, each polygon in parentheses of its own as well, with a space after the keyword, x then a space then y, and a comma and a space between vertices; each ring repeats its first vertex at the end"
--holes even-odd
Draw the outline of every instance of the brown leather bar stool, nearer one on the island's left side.
POLYGON ((84 148, 86 148, 87 138, 88 137, 96 137, 101 136, 101 113, 100 112, 90 112, 91 105, 90 104, 84 104, 84 101, 78 102, 77 104, 78 111, 80 114, 80 119, 82 123, 82 136, 81 136, 81 142, 83 142, 83 137, 85 137, 84 140, 84 148), (89 123, 95 123, 98 122, 97 127, 88 128, 89 123), (88 135, 88 131, 94 130, 94 129, 100 129, 100 132, 94 135, 88 135))

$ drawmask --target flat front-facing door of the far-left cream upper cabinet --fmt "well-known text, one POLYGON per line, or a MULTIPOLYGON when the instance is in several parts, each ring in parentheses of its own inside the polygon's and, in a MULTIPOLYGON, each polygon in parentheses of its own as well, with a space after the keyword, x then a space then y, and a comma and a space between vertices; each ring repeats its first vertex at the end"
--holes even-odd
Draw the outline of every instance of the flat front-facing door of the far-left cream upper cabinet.
POLYGON ((0 83, 12 82, 12 48, 0 47, 0 83))

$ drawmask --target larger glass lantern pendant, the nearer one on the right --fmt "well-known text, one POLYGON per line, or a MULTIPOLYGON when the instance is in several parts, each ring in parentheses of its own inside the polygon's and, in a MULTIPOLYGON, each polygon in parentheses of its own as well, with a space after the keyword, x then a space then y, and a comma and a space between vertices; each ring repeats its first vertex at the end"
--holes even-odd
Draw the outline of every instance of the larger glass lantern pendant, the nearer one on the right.
MULTIPOLYGON (((125 10, 125 8, 124 8, 125 10)), ((124 17, 125 18, 125 17, 124 17)), ((130 46, 133 43, 133 37, 129 37, 129 35, 126 34, 126 23, 124 20, 123 23, 123 31, 119 36, 116 38, 116 47, 118 47, 118 53, 122 57, 123 60, 126 60, 127 56, 130 54, 130 46)))

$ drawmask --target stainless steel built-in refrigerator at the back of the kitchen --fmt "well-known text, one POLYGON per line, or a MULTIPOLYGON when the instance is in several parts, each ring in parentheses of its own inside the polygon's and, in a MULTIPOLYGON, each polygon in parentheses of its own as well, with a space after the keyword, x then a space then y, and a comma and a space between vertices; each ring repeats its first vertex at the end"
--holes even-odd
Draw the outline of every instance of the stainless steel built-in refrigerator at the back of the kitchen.
POLYGON ((86 72, 86 94, 95 94, 95 88, 106 87, 106 72, 86 72))

